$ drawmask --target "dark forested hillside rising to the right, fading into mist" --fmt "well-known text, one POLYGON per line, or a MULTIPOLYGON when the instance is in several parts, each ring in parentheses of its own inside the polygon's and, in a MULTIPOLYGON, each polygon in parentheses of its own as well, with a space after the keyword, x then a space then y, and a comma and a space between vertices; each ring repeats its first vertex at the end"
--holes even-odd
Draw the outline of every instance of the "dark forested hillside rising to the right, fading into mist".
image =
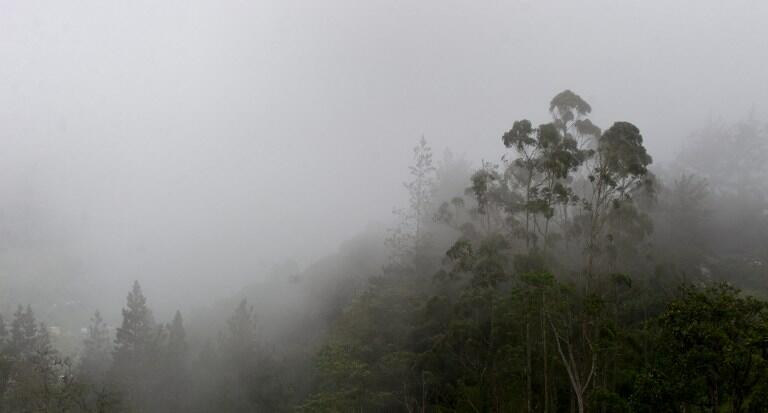
POLYGON ((397 225, 194 318, 139 276, 72 354, 3 314, 0 412, 768 411, 768 127, 655 167, 576 93, 541 109, 479 168, 422 137, 397 225))

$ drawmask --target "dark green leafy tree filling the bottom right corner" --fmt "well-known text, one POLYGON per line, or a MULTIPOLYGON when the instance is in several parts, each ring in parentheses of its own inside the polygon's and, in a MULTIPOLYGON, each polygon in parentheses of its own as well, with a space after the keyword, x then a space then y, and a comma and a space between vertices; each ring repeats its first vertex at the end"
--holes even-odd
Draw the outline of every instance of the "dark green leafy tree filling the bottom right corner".
POLYGON ((654 325, 656 357, 639 377, 638 411, 768 408, 768 304, 725 283, 687 285, 654 325))

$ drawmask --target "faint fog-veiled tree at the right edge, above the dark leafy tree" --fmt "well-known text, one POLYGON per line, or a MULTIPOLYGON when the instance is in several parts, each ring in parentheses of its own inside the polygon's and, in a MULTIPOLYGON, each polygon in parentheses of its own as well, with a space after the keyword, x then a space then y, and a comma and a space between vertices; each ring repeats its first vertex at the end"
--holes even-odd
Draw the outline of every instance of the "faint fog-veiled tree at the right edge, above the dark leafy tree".
MULTIPOLYGON (((695 239, 688 245, 690 251, 681 248, 691 258, 700 258, 689 269, 691 275, 732 280, 746 289, 764 288, 768 275, 766 157, 768 124, 754 114, 732 124, 708 122, 689 138, 675 164, 679 173, 706 179, 709 189, 709 211, 698 228, 704 231, 679 236, 695 239)), ((699 211, 691 212, 695 216, 699 211)))

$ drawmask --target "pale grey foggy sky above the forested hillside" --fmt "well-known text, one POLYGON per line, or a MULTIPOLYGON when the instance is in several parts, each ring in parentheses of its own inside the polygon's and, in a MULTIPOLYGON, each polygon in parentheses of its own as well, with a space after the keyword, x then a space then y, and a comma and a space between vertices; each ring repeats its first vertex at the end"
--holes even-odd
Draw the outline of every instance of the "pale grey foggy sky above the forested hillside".
POLYGON ((764 1, 0 0, 0 203, 32 205, 89 276, 235 287, 386 223, 422 134, 496 160, 570 88, 664 161, 711 117, 764 115, 767 19, 764 1))

